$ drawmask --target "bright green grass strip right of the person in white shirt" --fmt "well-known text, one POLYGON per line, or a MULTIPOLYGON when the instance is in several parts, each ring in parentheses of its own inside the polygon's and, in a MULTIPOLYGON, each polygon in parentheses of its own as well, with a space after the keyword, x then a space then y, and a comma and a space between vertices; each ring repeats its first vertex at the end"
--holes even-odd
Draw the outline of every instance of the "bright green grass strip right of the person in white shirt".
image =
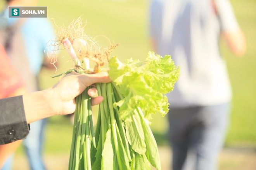
POLYGON ((231 126, 227 137, 230 145, 254 145, 256 141, 256 2, 231 0, 247 41, 244 58, 230 54, 222 46, 233 87, 231 126))

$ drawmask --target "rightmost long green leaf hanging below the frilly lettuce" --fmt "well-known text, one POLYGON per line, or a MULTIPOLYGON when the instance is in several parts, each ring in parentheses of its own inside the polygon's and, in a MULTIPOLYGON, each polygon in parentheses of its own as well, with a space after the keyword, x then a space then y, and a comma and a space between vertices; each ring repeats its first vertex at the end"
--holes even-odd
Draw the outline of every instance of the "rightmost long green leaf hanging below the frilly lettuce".
POLYGON ((154 138, 154 135, 150 129, 149 122, 144 118, 144 115, 140 108, 138 108, 136 111, 136 114, 139 114, 140 120, 142 123, 142 127, 145 134, 145 142, 146 142, 146 156, 149 162, 153 167, 155 167, 157 170, 161 170, 161 160, 157 148, 156 139, 154 138))

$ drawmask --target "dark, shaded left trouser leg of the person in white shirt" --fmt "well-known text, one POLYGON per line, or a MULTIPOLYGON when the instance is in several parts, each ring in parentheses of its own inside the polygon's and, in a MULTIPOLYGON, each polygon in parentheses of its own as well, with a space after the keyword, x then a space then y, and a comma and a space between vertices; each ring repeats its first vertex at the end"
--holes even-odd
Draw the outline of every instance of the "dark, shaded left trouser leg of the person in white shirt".
POLYGON ((173 151, 173 170, 182 170, 190 143, 190 132, 195 113, 199 107, 171 108, 168 114, 169 119, 169 137, 173 151))

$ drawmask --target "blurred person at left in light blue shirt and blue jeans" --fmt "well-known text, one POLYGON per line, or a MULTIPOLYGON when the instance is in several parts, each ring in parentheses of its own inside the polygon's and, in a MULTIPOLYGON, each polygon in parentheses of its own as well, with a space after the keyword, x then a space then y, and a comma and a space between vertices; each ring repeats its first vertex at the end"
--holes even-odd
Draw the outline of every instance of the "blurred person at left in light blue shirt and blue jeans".
MULTIPOLYGON (((7 6, 35 6, 36 3, 37 0, 7 0, 7 6)), ((8 18, 8 9, 3 11, 2 16, 6 21, 5 24, 8 26, 19 22, 18 18, 8 18)), ((37 78, 45 60, 47 60, 47 62, 45 62, 46 66, 53 68, 48 61, 49 59, 45 57, 45 49, 47 49, 48 42, 55 38, 54 29, 47 18, 25 19, 22 21, 19 29, 21 29, 29 69, 33 76, 37 78)), ((36 86, 37 89, 28 89, 28 91, 33 92, 40 90, 38 85, 36 86)), ((23 141, 31 170, 45 170, 45 165, 42 160, 45 123, 46 119, 42 119, 30 124, 31 131, 28 137, 23 141)), ((12 158, 9 158, 3 170, 10 170, 11 165, 12 158)))

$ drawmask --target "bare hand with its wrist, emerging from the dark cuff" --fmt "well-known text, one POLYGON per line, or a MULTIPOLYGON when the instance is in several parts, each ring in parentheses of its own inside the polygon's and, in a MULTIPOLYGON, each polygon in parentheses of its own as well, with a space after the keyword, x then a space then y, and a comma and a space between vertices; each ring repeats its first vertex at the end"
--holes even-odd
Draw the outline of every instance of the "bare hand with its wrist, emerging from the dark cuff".
MULTIPOLYGON (((93 75, 73 74, 65 76, 54 87, 23 95, 24 110, 28 123, 54 115, 71 114, 76 108, 74 98, 90 85, 110 82, 106 72, 93 75), (36 110, 36 114, 35 114, 36 110)), ((95 88, 88 90, 88 95, 95 97, 95 88)), ((92 99, 92 105, 99 104, 102 97, 92 99)))

